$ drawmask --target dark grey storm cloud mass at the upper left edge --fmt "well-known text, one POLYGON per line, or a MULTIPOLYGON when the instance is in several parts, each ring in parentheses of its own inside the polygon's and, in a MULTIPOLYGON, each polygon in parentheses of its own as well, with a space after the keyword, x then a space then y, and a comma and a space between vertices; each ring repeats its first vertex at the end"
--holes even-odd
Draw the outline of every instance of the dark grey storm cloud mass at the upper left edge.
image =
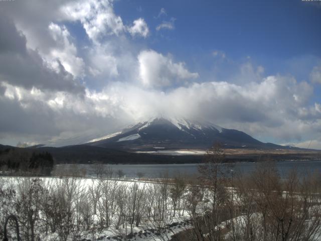
POLYGON ((57 70, 50 68, 37 51, 27 49, 26 38, 10 18, 0 15, 0 81, 23 86, 73 93, 84 93, 58 62, 57 70))

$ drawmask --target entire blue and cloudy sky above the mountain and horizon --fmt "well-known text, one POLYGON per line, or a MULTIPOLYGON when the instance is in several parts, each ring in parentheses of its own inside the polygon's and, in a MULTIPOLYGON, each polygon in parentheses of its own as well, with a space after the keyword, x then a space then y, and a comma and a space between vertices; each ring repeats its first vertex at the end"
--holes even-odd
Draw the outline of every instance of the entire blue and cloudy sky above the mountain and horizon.
POLYGON ((319 2, 16 0, 0 9, 0 107, 10 110, 0 143, 81 143, 166 115, 321 148, 319 2))

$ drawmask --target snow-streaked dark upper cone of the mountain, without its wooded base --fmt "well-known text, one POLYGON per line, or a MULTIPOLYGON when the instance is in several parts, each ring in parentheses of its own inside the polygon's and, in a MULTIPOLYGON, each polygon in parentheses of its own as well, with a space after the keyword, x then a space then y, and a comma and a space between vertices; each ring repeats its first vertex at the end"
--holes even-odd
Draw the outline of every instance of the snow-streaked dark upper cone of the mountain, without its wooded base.
MULTIPOLYGON (((208 149, 220 142, 224 148, 278 148, 262 143, 244 132, 207 123, 157 117, 130 126, 121 132, 93 139, 86 145, 122 150, 208 149)), ((284 148, 284 147, 283 147, 284 148)))

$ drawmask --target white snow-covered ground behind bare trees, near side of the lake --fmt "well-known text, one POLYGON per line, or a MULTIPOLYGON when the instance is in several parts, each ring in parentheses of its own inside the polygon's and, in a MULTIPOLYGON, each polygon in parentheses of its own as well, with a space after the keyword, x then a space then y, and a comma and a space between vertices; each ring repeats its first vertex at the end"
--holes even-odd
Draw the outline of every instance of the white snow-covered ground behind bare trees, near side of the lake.
MULTIPOLYGON (((0 190, 6 190, 8 188, 11 188, 13 190, 17 191, 18 196, 23 195, 24 190, 23 189, 28 189, 28 185, 32 185, 32 180, 33 178, 28 178, 28 177, 0 177, 0 190), (28 183, 28 185, 27 185, 28 183), (22 187, 24 187, 22 189, 22 187)), ((90 205, 90 208, 88 210, 91 210, 91 215, 88 217, 90 218, 91 222, 91 228, 86 229, 86 228, 81 228, 77 232, 73 232, 69 235, 68 240, 170 240, 171 236, 174 235, 175 233, 178 233, 182 230, 191 228, 192 226, 188 223, 188 219, 190 218, 188 211, 185 210, 185 212, 182 212, 181 208, 177 208, 176 210, 176 215, 173 213, 173 207, 171 205, 170 199, 167 197, 167 208, 162 209, 165 210, 164 214, 164 220, 158 220, 158 218, 152 218, 152 217, 147 217, 147 208, 156 208, 154 205, 149 205, 147 206, 145 199, 147 198, 147 194, 149 195, 156 195, 155 192, 157 191, 159 185, 162 184, 157 184, 157 183, 152 183, 152 182, 143 182, 143 181, 137 181, 137 180, 107 180, 107 179, 95 179, 95 178, 53 178, 53 177, 46 177, 46 178, 40 178, 42 186, 44 186, 49 192, 55 193, 54 190, 59 190, 60 188, 70 188, 69 191, 73 192, 73 195, 75 197, 72 197, 72 210, 74 212, 74 218, 76 215, 84 215, 81 214, 82 211, 79 209, 78 211, 76 210, 78 207, 77 205, 82 205, 82 201, 79 201, 79 198, 82 198, 83 195, 87 195, 87 201, 88 204, 90 205), (157 188, 156 188, 157 186, 157 188), (130 225, 127 221, 122 220, 120 225, 117 227, 117 222, 120 220, 120 213, 119 208, 117 211, 114 211, 114 214, 110 216, 110 224, 108 228, 99 228, 99 223, 102 220, 100 213, 99 205, 105 203, 106 204, 106 199, 104 199, 103 195, 106 194, 104 193, 104 190, 107 190, 108 188, 108 195, 113 195, 113 192, 120 192, 123 194, 122 199, 123 200, 114 200, 114 205, 116 205, 116 202, 119 202, 119 205, 126 205, 128 210, 122 211, 124 213, 123 215, 129 215, 132 213, 135 213, 135 215, 141 215, 141 221, 138 224, 138 226, 133 223, 130 225), (77 193, 81 190, 81 194, 77 193), (100 194, 97 194, 96 199, 95 199, 95 192, 101 191, 100 194), (134 194, 133 192, 136 191, 137 195, 144 195, 143 199, 133 199, 134 194), (77 194, 76 194, 77 193, 77 194), (142 194, 143 193, 143 194, 142 194), (134 200, 134 201, 133 201, 134 200), (141 207, 136 207, 132 206, 135 204, 132 204, 132 202, 141 202, 140 205, 143 205, 143 209, 139 209, 141 207), (97 213, 94 214, 93 211, 93 206, 96 203, 97 205, 97 213), (136 211, 130 211, 130 209, 136 208, 136 211), (132 231, 132 234, 130 234, 132 231), (78 237, 78 238, 77 238, 78 237), (75 239, 76 238, 76 239, 75 239)), ((159 189, 159 190, 162 190, 159 189)), ((67 190, 66 190, 67 191, 67 190)), ((115 193, 114 193, 115 194, 115 193)), ((50 195, 50 194, 48 194, 50 195)), ((66 195, 68 195, 66 193, 66 195)), ((45 197, 44 197, 45 198, 45 197)), ((115 197, 110 197, 110 200, 115 197)), ((155 200, 157 197, 153 197, 155 200)), ((158 196, 158 198, 161 198, 158 196)), ((17 197, 17 199, 19 199, 17 197)), ((148 198, 147 198, 148 199, 148 198)), ((0 197, 0 204, 1 204, 1 197, 0 197)), ((150 200, 149 201, 154 201, 150 200)), ((110 201, 111 202, 111 201, 110 201)), ((164 200, 163 200, 164 202, 164 200)), ((46 203, 44 203, 46 204, 46 203)), ((43 204, 41 204, 43 205, 43 204)), ((118 205, 118 204, 117 204, 118 205)), ((139 204, 138 204, 139 205, 139 204)), ((165 205, 163 203, 163 205, 165 205)), ((12 207, 13 208, 13 207, 12 207)), ((165 207, 163 207, 165 208, 165 207)), ((87 211, 88 211, 87 210, 87 211)), ((2 208, 0 208, 0 211, 2 208)), ((13 213, 15 213, 14 210, 12 210, 13 213)), ((156 209, 154 210, 155 212, 156 209)), ((158 210, 159 211, 159 210, 158 210)), ((19 216, 17 213, 16 215, 19 216)), ((1 216, 1 213, 0 213, 1 216)), ((46 215, 42 212, 39 211, 39 219, 46 219, 46 215)), ((123 218, 123 217, 122 217, 123 218)), ((20 218, 21 219, 21 218, 20 218)), ((126 217, 125 217, 126 219, 126 217)), ((128 219, 128 216, 127 216, 128 219)), ((85 219, 84 219, 85 220, 85 219)), ((3 225, 4 220, 0 218, 0 226, 3 225)), ((76 224, 76 219, 74 220, 75 225, 76 224)), ((83 221, 82 221, 83 222, 83 221)), ((40 221, 37 221, 39 226, 42 226, 43 224, 40 225, 40 221)), ((23 228, 21 228, 23 230, 23 228)), ((41 238, 41 240, 60 240, 59 233, 58 232, 42 232, 40 229, 37 229, 36 232, 38 233, 37 235, 41 238)))

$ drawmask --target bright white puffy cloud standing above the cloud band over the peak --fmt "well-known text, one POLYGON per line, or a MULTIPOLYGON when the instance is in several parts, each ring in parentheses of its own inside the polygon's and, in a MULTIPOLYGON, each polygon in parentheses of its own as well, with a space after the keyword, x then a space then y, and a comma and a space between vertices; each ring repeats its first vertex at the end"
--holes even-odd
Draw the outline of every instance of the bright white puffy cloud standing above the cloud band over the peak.
POLYGON ((162 87, 184 79, 195 79, 198 73, 191 73, 184 62, 175 63, 170 56, 153 50, 144 50, 138 55, 139 77, 144 86, 162 87))

